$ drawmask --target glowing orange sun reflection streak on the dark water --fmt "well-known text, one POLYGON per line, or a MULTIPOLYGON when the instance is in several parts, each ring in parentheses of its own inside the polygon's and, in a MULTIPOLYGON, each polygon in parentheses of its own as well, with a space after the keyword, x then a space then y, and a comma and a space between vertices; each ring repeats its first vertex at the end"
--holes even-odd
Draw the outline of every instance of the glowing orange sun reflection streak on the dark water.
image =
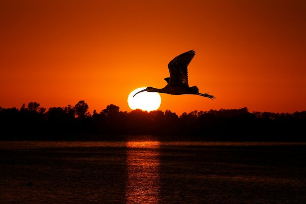
POLYGON ((129 141, 127 146, 127 203, 159 203, 158 141, 129 141))

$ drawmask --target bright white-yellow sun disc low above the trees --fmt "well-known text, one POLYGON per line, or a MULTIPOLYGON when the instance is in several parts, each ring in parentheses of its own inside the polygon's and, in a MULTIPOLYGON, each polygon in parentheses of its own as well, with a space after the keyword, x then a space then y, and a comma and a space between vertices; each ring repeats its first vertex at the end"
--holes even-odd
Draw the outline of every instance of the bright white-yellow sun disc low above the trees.
POLYGON ((129 103, 129 107, 132 110, 141 109, 143 111, 155 111, 160 107, 162 99, 159 93, 144 91, 133 97, 135 93, 145 88, 146 87, 135 89, 127 98, 127 103, 129 103))

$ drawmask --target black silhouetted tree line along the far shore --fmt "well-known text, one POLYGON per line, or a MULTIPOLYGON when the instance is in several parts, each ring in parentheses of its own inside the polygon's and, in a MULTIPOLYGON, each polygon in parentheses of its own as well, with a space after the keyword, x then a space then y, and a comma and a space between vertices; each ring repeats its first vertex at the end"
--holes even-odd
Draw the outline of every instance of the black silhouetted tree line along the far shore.
POLYGON ((84 100, 75 106, 46 110, 36 102, 20 109, 0 107, 0 140, 79 140, 101 136, 197 136, 208 140, 305 141, 306 111, 252 112, 241 109, 192 111, 181 116, 170 110, 122 112, 108 105, 88 112, 84 100), (92 136, 95 137, 92 137, 92 136))

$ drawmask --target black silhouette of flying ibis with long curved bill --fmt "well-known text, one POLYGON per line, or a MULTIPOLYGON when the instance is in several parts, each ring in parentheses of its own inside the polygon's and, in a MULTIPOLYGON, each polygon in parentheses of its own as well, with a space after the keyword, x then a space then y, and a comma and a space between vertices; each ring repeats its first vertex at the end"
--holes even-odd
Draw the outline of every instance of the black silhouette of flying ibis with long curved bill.
POLYGON ((194 56, 195 52, 192 49, 186 53, 176 56, 175 58, 173 58, 173 60, 169 62, 168 68, 170 72, 170 77, 165 78, 167 85, 164 88, 157 89, 149 86, 137 92, 136 94, 143 91, 167 93, 172 95, 195 94, 203 97, 208 97, 210 99, 214 99, 215 96, 208 94, 208 92, 199 93, 199 89, 197 88, 197 86, 189 87, 188 85, 187 67, 194 56))

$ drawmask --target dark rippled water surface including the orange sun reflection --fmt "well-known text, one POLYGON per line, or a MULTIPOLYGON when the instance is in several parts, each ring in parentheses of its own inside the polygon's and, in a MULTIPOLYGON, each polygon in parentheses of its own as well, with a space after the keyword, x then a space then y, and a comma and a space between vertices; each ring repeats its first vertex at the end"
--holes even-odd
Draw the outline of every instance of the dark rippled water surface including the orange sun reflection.
POLYGON ((0 142, 3 203, 306 203, 306 144, 0 142))

